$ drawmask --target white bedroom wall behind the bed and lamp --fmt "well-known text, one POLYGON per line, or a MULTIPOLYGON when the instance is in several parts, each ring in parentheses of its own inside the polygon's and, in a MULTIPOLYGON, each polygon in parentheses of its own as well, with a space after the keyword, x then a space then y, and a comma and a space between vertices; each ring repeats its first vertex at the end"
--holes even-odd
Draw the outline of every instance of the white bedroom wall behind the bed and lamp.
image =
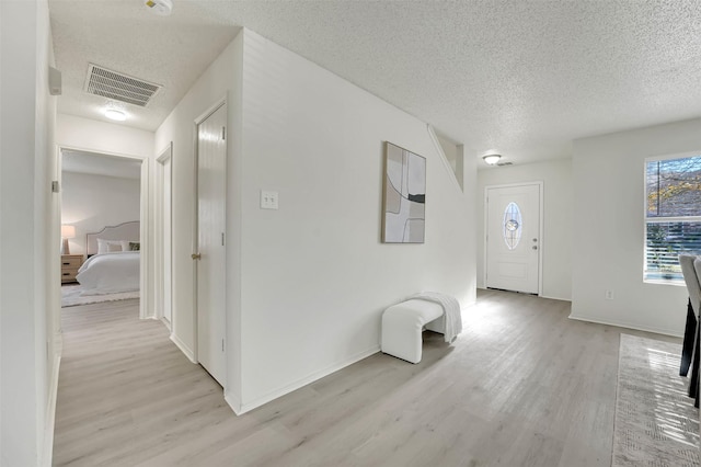
POLYGON ((71 254, 85 253, 85 234, 139 220, 139 180, 65 171, 62 185, 61 224, 76 226, 71 254))

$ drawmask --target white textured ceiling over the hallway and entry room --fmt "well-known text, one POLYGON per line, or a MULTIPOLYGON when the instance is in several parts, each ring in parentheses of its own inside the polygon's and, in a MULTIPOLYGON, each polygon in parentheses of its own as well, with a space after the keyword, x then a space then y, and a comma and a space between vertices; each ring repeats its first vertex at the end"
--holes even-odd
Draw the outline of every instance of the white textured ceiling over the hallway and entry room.
POLYGON ((59 112, 100 118, 88 62, 163 84, 156 129, 249 27, 430 123, 480 157, 568 157, 572 140, 701 116, 701 2, 49 0, 59 112))

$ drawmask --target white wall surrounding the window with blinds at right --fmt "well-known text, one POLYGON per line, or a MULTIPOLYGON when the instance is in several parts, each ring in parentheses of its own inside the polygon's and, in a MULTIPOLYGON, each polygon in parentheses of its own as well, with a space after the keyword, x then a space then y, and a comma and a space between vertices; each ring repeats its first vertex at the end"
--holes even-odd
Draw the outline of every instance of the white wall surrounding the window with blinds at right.
POLYGON ((574 141, 573 318, 683 333, 686 287, 643 283, 643 180, 645 158, 689 151, 701 119, 574 141))

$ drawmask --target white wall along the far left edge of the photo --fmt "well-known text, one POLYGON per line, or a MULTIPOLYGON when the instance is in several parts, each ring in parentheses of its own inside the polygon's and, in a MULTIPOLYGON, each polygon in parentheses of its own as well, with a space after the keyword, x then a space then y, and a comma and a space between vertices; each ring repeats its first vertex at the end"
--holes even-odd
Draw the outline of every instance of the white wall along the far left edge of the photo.
POLYGON ((45 1, 0 2, 1 466, 45 462, 55 368, 50 315, 56 305, 49 297, 58 287, 58 246, 47 238, 57 231, 50 221, 56 112, 47 86, 50 37, 45 1))

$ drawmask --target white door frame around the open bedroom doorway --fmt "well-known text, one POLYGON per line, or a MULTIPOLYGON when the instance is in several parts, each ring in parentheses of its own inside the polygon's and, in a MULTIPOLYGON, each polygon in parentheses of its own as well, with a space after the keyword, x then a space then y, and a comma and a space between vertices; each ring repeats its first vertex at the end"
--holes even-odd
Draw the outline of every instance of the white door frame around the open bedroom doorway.
MULTIPOLYGON (((64 150, 72 150, 72 151, 83 151, 83 152, 94 152, 94 153, 99 153, 99 155, 105 155, 105 156, 112 156, 112 157, 120 157, 120 158, 125 158, 125 159, 136 159, 136 160, 140 160, 141 161, 141 187, 140 187, 140 193, 139 193, 139 208, 140 208, 140 215, 139 215, 139 236, 140 236, 140 242, 141 242, 141 261, 140 261, 140 265, 139 265, 139 274, 140 274, 140 278, 139 278, 139 287, 140 287, 140 295, 141 295, 141 299, 139 300, 139 318, 140 319, 147 319, 147 318, 151 318, 152 316, 149 315, 148 310, 149 310, 149 303, 152 301, 152 297, 150 294, 150 285, 151 285, 151 278, 148 275, 148 271, 149 271, 149 266, 150 266, 150 262, 149 262, 149 253, 150 253, 150 241, 149 241, 149 234, 150 234, 150 212, 149 212, 149 158, 145 157, 145 156, 135 156, 135 155, 125 155, 125 153, 119 153, 119 152, 110 152, 110 151, 105 151, 102 149, 93 149, 93 148, 80 148, 77 146, 58 146, 58 156, 60 158, 60 166, 61 170, 62 170, 62 166, 64 166, 64 150)), ((62 183, 62 180, 61 180, 62 183)), ((59 192, 62 190, 59 190, 59 192)), ((62 195, 61 195, 61 206, 62 206, 62 195)), ((59 206, 58 208, 61 209, 61 206, 59 206)), ((60 219, 61 213, 59 210, 58 213, 58 218, 60 219)), ((60 229, 60 227, 59 227, 60 229)), ((59 307, 59 312, 60 312, 60 307, 59 307)))

